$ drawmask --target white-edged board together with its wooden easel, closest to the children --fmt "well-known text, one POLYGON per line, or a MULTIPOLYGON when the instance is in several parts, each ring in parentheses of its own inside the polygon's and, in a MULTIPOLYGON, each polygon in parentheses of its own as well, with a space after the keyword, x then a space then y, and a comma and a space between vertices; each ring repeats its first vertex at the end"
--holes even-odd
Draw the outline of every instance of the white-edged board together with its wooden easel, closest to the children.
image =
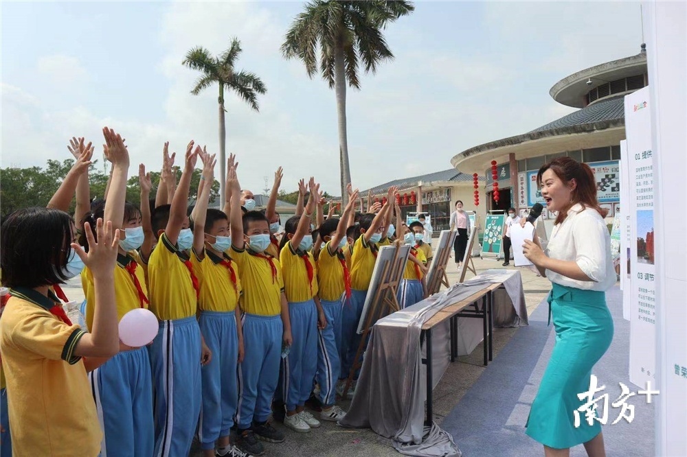
POLYGON ((409 244, 394 244, 382 246, 377 253, 377 259, 372 270, 372 280, 368 295, 365 297, 363 311, 358 322, 357 333, 362 337, 353 364, 348 373, 343 397, 346 397, 353 377, 362 366, 361 355, 368 344, 368 334, 377 320, 392 314, 401 306, 398 304, 396 292, 403 279, 405 264, 408 261, 411 246, 409 244))

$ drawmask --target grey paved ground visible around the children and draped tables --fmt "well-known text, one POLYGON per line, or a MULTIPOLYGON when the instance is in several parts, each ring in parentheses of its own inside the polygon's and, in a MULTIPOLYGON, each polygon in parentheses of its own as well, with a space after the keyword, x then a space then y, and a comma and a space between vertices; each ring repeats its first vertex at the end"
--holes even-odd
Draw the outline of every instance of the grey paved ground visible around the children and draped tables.
MULTIPOLYGON (((502 267, 503 260, 473 259, 477 274, 492 268, 502 267)), ((513 263, 511 263, 513 265, 513 263)), ((511 266, 510 268, 514 268, 511 266)), ((519 268, 525 292, 528 315, 541 303, 550 290, 550 282, 537 274, 519 268)), ((447 267, 449 283, 458 281, 458 271, 453 259, 449 259, 447 267)), ((470 279, 474 274, 467 272, 465 279, 470 279)), ((65 294, 70 300, 82 300, 83 292, 78 278, 72 279, 65 286, 65 294)), ((517 328, 494 329, 493 353, 498 357, 499 351, 508 343, 517 332, 517 328)), ((449 364, 446 373, 434 389, 433 412, 434 419, 441 423, 463 395, 477 382, 484 370, 482 365, 482 343, 477 345, 470 355, 458 358, 457 362, 449 364)), ((345 410, 348 403, 341 403, 345 410)), ((391 441, 383 438, 372 430, 350 430, 337 426, 335 423, 322 423, 322 427, 307 434, 298 434, 284 427, 281 423, 275 423, 275 427, 286 434, 286 441, 281 444, 264 443, 268 456, 332 456, 332 457, 358 457, 358 456, 395 456, 401 454, 392 447, 391 441)), ((460 447, 460 443, 457 443, 460 447)), ((200 457, 199 448, 192 449, 191 456, 200 457)))

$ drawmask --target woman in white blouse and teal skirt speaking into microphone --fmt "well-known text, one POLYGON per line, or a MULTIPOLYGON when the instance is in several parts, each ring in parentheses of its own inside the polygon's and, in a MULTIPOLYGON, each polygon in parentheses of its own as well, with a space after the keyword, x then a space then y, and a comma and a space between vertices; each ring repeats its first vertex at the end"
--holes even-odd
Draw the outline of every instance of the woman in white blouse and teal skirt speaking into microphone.
POLYGON ((587 419, 585 410, 577 412, 578 424, 575 417, 587 401, 578 394, 589 390, 592 368, 613 339, 605 291, 616 283, 616 272, 603 219, 607 211, 596 200, 592 169, 570 157, 541 167, 537 184, 548 211, 559 213, 546 250, 534 235, 523 253, 552 283, 549 320, 553 317, 556 344, 532 403, 527 434, 544 445, 546 457, 569 456, 570 447, 582 443, 589 456, 605 456, 600 423, 587 419))

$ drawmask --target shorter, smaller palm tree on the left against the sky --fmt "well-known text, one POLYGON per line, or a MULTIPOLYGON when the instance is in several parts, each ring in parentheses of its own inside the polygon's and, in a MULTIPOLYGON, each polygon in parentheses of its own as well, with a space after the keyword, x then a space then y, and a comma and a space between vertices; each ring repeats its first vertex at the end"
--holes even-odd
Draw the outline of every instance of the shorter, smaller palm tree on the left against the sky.
POLYGON ((224 89, 225 86, 233 89, 247 104, 256 111, 258 107, 258 94, 264 95, 267 92, 262 80, 255 73, 240 71, 236 73, 234 65, 236 59, 241 54, 241 42, 238 38, 232 39, 232 45, 224 51, 221 56, 213 57, 210 51, 204 47, 194 47, 183 60, 183 65, 193 70, 198 70, 203 75, 198 78, 196 85, 191 91, 193 95, 198 95, 206 87, 215 82, 219 85, 219 184, 220 184, 220 208, 224 207, 225 200, 225 180, 227 176, 226 167, 226 143, 227 130, 225 127, 224 113, 224 89))

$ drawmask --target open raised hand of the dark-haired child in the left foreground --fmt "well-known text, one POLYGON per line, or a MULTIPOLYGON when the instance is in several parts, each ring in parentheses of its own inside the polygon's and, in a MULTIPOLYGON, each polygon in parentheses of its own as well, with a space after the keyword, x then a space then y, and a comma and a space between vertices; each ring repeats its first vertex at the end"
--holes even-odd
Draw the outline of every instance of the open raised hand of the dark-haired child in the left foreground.
POLYGON ((84 233, 88 241, 88 254, 77 243, 72 243, 71 248, 81 257, 81 260, 91 270, 94 277, 111 278, 115 272, 117 248, 120 246, 119 229, 113 230, 111 221, 103 224, 102 218, 99 218, 95 222, 95 233, 98 235, 98 241, 95 241, 91 225, 88 222, 84 224, 84 233))

